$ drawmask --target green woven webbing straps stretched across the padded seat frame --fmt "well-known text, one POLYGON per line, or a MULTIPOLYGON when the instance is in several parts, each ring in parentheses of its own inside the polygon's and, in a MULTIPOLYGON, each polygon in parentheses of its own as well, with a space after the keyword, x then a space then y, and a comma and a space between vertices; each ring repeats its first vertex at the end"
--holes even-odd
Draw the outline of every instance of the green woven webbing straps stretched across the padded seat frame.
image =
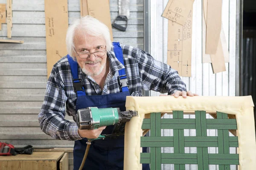
POLYGON ((230 170, 239 164, 239 154, 230 154, 230 147, 238 147, 238 137, 229 136, 229 130, 237 129, 236 119, 226 113, 217 112, 217 119, 206 119, 205 111, 195 111, 195 119, 183 119, 183 111, 173 111, 173 119, 151 113, 142 129, 150 129, 140 142, 150 153, 141 153, 140 163, 150 164, 151 170, 161 170, 161 164, 174 164, 175 170, 185 170, 185 164, 209 170, 209 164, 218 164, 219 170, 230 170), (161 136, 161 129, 173 129, 173 136, 161 136), (196 136, 184 136, 184 129, 195 129, 196 136), (218 136, 207 136, 207 129, 217 129, 218 136), (174 147, 174 153, 161 153, 161 147, 174 147), (197 153, 185 153, 185 147, 197 147, 197 153), (208 153, 208 147, 218 147, 218 153, 208 153))

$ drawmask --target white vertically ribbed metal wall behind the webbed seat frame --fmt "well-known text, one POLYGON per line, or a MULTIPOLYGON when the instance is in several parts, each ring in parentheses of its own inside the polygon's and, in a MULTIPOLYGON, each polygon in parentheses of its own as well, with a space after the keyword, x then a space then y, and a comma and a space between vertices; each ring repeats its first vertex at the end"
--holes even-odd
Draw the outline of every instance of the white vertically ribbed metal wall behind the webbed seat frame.
MULTIPOLYGON (((167 63, 168 20, 161 17, 168 0, 150 1, 150 54, 167 63)), ((202 0, 195 0, 193 5, 192 27, 192 76, 182 77, 187 89, 200 96, 235 96, 236 94, 236 0, 223 0, 222 24, 230 51, 230 62, 226 70, 213 74, 210 63, 202 63, 202 0)), ((151 91, 150 96, 160 93, 151 91)), ((165 115, 164 118, 172 118, 165 115)), ((184 115, 193 118, 195 115, 184 115)), ((212 117, 207 115, 208 119, 212 117)), ((173 130, 162 130, 163 136, 173 136, 173 130)), ((195 136, 195 130, 184 130, 185 136, 195 136)), ((216 130, 207 130, 207 135, 217 136, 216 130)), ((217 148, 209 148, 209 153, 218 152, 217 148)), ((163 153, 173 153, 173 147, 163 147, 163 153)), ((196 153, 196 147, 186 147, 185 153, 196 153)), ((230 153, 236 153, 232 148, 230 153)), ((162 165, 163 170, 174 170, 173 164, 162 165)), ((218 165, 210 165, 210 170, 218 170, 218 165)), ((236 166, 231 165, 235 170, 236 166)), ((197 170, 197 165, 186 165, 186 170, 197 170)))

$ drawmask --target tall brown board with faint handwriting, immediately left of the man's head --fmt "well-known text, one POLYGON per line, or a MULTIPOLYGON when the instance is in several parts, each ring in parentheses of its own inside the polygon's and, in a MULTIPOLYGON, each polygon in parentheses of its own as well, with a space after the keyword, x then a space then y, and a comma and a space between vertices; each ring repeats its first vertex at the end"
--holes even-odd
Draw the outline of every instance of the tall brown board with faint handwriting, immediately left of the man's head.
POLYGON ((52 66, 67 54, 66 33, 68 28, 67 0, 45 0, 45 27, 47 48, 47 76, 52 66))

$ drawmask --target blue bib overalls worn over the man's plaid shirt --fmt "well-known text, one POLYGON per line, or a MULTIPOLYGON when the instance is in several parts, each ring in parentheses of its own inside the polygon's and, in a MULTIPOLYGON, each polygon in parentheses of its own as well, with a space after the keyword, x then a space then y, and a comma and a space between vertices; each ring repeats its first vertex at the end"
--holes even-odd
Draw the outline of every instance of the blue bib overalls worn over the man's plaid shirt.
MULTIPOLYGON (((119 42, 113 42, 114 53, 119 62, 124 65, 122 48, 119 42)), ((78 77, 78 63, 68 55, 71 73, 73 75, 73 85, 81 82, 78 77)), ((126 79, 125 68, 119 70, 119 78, 126 79)), ((81 108, 98 107, 98 108, 120 108, 125 111, 126 96, 129 96, 128 87, 122 87, 122 92, 115 94, 106 94, 99 96, 87 96, 84 91, 76 91, 76 111, 81 108)), ((102 134, 111 134, 113 126, 108 126, 102 131, 102 134)), ((73 156, 74 170, 79 170, 84 157, 87 139, 75 141, 73 156)), ((143 148, 143 152, 146 148, 143 148)), ((91 142, 90 150, 85 161, 83 170, 123 170, 124 159, 124 135, 113 138, 97 139, 91 142)), ((149 164, 143 164, 143 170, 149 170, 149 164)))

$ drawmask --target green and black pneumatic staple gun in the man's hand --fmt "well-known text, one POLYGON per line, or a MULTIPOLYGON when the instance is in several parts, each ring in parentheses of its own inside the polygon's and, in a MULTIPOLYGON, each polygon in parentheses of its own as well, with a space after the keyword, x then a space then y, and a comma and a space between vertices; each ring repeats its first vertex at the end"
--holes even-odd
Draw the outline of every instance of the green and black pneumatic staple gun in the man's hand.
MULTIPOLYGON (((76 113, 76 123, 80 130, 93 130, 102 126, 115 125, 113 134, 100 135, 97 139, 107 136, 119 136, 124 133, 125 123, 132 117, 138 116, 137 111, 120 111, 119 108, 90 107, 79 109, 76 113)), ((89 139, 90 141, 95 139, 89 139)))

